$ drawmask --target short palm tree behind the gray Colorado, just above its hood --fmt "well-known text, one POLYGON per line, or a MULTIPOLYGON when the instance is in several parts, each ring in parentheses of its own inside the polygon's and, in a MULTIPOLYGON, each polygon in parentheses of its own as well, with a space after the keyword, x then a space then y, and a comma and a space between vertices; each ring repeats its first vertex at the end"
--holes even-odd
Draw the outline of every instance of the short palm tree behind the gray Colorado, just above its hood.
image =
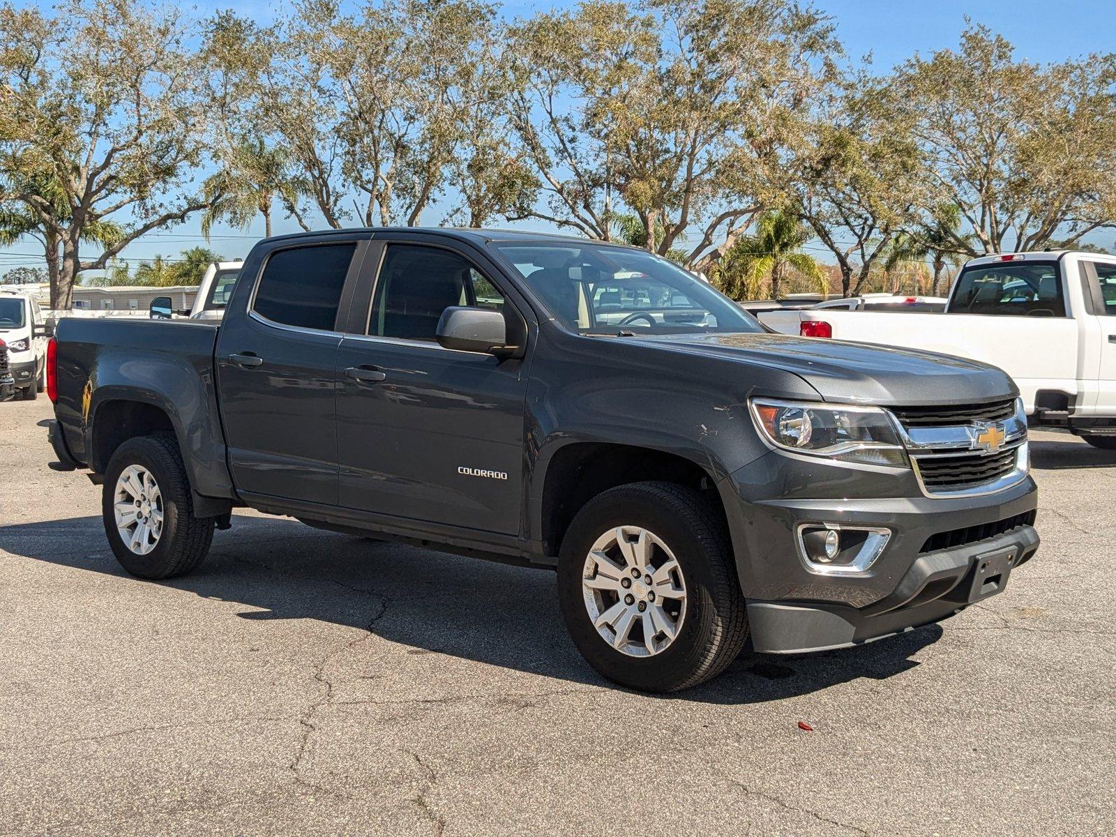
POLYGON ((778 299, 787 270, 792 269, 826 295, 826 275, 816 259, 801 251, 809 240, 809 232, 795 215, 781 210, 766 212, 756 222, 756 232, 738 239, 721 257, 713 278, 733 299, 756 299, 770 277, 771 298, 778 299))

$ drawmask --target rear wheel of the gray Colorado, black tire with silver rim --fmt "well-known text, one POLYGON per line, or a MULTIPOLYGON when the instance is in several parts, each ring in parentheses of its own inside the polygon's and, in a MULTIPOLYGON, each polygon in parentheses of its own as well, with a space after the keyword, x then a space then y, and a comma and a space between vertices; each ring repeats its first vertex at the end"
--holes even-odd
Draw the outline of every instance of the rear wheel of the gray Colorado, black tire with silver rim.
POLYGON ((186 469, 179 445, 170 434, 137 436, 116 449, 105 470, 102 517, 116 560, 140 578, 157 580, 185 575, 201 564, 213 541, 215 519, 194 517, 186 469), (162 514, 157 526, 155 522, 147 526, 147 533, 140 531, 138 523, 126 529, 132 535, 143 535, 138 549, 124 541, 116 518, 117 492, 123 492, 119 497, 125 502, 136 497, 118 484, 121 475, 128 469, 135 469, 132 475, 138 477, 140 483, 143 482, 142 474, 148 474, 157 489, 157 492, 143 492, 147 502, 138 507, 140 511, 147 513, 148 520, 155 517, 155 512, 162 514))

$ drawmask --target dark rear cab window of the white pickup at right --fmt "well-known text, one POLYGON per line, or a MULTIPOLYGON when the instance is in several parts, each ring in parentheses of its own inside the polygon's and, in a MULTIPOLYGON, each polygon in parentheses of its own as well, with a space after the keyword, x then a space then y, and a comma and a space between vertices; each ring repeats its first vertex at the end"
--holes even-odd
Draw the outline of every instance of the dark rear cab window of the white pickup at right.
POLYGON ((1016 261, 963 270, 950 300, 950 311, 1065 317, 1058 263, 1016 261))

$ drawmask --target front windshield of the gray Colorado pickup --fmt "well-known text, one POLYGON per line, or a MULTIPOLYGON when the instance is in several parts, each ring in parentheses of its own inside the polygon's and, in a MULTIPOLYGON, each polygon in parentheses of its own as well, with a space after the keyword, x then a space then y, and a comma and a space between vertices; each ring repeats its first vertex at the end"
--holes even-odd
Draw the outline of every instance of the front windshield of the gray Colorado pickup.
POLYGON ((762 326, 672 261, 607 244, 500 244, 566 328, 578 334, 752 333, 762 326))

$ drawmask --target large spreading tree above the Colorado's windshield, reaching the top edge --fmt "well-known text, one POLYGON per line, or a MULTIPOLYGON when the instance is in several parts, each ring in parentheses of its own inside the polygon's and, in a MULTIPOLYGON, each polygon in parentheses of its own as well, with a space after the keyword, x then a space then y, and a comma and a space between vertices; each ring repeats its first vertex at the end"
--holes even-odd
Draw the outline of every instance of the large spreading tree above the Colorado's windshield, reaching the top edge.
POLYGON ((781 150, 838 52, 827 19, 783 0, 589 0, 509 40, 546 200, 529 214, 608 239, 623 205, 648 249, 684 244, 696 269, 778 198, 781 150))

